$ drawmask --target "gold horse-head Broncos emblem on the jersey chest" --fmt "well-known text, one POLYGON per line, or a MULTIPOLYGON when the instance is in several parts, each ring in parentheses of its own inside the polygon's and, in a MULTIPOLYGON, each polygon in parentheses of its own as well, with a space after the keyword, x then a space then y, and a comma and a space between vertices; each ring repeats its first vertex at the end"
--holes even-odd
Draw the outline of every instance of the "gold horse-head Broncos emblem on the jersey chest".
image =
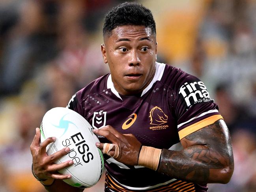
POLYGON ((168 116, 164 114, 163 110, 158 106, 155 106, 149 112, 150 124, 151 125, 162 125, 167 123, 168 116))

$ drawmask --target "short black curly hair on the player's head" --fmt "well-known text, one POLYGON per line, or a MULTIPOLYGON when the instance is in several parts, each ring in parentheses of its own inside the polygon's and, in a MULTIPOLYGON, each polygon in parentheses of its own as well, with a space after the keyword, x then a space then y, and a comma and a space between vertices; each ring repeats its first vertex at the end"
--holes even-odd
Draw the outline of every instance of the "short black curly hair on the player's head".
POLYGON ((105 15, 103 36, 111 35, 113 29, 123 25, 137 25, 149 27, 156 34, 155 20, 151 11, 134 2, 125 2, 110 9, 105 15))

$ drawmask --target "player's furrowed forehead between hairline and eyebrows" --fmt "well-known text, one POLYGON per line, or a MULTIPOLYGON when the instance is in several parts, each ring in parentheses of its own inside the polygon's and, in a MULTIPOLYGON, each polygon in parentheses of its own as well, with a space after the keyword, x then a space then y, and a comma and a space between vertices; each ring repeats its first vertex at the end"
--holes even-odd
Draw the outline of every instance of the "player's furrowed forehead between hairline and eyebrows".
POLYGON ((112 30, 112 33, 107 38, 109 39, 139 39, 142 37, 148 37, 153 41, 155 35, 153 35, 151 28, 145 26, 136 26, 136 25, 124 25, 118 26, 112 30))

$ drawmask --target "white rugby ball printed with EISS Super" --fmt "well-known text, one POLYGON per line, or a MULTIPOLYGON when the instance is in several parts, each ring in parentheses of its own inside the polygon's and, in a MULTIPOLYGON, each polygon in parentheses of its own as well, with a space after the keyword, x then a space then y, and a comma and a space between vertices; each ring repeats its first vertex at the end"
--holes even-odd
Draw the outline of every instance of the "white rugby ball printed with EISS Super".
POLYGON ((104 160, 95 143, 99 142, 92 132, 92 126, 77 112, 64 107, 50 109, 41 123, 41 142, 49 137, 56 141, 47 146, 47 155, 69 147, 70 151, 55 163, 73 160, 74 164, 60 170, 61 174, 70 174, 64 181, 75 187, 95 185, 103 172, 104 160))

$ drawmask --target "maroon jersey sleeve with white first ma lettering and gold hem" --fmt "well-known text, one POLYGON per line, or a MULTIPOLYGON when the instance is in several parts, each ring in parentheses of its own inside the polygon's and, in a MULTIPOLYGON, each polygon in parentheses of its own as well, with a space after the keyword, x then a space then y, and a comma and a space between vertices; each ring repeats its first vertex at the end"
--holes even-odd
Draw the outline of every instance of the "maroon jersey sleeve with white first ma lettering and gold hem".
POLYGON ((223 117, 210 98, 205 84, 195 76, 184 73, 176 84, 175 113, 181 140, 185 136, 223 117))

